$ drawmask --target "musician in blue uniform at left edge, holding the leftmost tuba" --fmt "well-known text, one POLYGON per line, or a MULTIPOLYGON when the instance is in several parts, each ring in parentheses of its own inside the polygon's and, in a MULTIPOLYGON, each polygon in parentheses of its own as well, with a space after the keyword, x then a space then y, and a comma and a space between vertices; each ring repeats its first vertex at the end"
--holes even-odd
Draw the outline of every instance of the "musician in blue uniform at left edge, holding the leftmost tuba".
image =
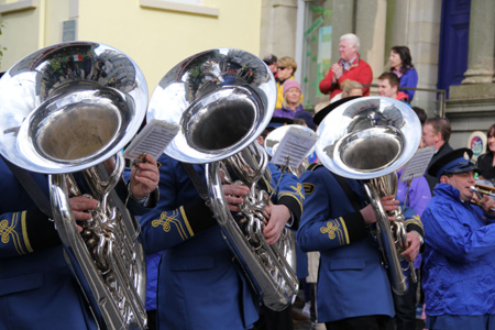
MULTIPOLYGON (((153 160, 139 166, 128 207, 142 213, 147 209, 136 199, 156 187, 158 170, 153 160)), ((31 175, 48 199, 47 177, 31 175)), ((65 261, 53 220, 38 210, 1 157, 0 177, 0 329, 98 329, 65 261)), ((125 186, 122 190, 127 196, 125 186)), ((91 216, 86 211, 97 204, 86 197, 70 198, 78 221, 88 220, 91 216)))

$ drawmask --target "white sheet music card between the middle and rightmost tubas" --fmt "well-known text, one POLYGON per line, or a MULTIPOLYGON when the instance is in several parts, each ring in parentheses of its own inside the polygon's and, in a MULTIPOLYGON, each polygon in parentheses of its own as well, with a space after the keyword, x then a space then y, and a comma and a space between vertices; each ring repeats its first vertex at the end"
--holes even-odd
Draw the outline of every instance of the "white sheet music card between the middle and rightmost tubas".
POLYGON ((308 156, 317 140, 317 133, 289 129, 280 143, 274 146, 276 151, 272 157, 272 163, 284 166, 287 165, 288 158, 288 166, 298 167, 302 160, 308 156))

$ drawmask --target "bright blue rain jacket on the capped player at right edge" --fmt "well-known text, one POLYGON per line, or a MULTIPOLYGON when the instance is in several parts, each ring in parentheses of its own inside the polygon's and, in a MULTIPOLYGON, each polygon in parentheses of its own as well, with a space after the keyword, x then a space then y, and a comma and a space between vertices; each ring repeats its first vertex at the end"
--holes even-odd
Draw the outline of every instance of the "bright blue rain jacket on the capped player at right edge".
POLYGON ((495 312, 495 224, 460 191, 438 184, 422 213, 427 316, 495 312))

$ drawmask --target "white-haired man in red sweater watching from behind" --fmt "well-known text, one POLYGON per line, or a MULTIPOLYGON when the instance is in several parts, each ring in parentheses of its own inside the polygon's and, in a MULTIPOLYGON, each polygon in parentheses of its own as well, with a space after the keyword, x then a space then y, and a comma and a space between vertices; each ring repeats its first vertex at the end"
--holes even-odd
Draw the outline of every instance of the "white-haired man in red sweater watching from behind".
MULTIPOLYGON (((373 80, 371 66, 361 59, 360 38, 352 33, 340 37, 339 62, 334 63, 327 76, 320 81, 320 91, 330 94, 330 100, 342 91, 342 81, 350 79, 362 85, 370 85, 373 80)), ((363 87, 363 96, 370 95, 370 87, 363 87)))

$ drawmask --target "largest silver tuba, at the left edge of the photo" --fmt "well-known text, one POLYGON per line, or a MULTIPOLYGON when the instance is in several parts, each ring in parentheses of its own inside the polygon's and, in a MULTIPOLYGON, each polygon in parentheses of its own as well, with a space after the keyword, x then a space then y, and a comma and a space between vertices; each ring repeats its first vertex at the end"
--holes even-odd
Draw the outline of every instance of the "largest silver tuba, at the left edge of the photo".
POLYGON ((146 102, 139 67, 92 42, 37 51, 0 79, 0 152, 19 167, 50 175, 66 258, 103 329, 146 327, 140 227, 113 189, 122 180, 120 151, 138 132, 146 102), (100 204, 79 234, 69 196, 82 190, 100 204))

